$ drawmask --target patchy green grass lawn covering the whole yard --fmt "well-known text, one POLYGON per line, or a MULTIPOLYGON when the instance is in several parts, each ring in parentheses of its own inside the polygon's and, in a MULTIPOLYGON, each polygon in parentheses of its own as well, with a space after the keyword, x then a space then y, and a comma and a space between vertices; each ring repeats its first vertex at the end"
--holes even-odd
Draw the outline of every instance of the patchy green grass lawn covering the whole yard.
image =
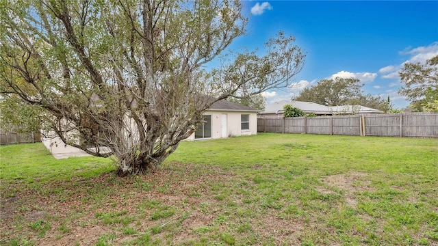
POLYGON ((146 176, 0 148, 0 245, 438 245, 438 139, 184 141, 146 176))

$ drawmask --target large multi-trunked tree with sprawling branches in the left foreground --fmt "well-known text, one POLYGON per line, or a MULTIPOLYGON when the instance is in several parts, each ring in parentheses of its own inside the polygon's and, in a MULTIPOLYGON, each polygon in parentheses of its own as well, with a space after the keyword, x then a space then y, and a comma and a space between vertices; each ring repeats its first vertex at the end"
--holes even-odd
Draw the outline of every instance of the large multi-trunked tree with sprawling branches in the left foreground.
POLYGON ((240 1, 1 0, 0 11, 3 99, 42 109, 64 143, 116 156, 120 175, 162 163, 214 102, 289 85, 305 57, 279 32, 264 55, 216 59, 245 32, 240 1))

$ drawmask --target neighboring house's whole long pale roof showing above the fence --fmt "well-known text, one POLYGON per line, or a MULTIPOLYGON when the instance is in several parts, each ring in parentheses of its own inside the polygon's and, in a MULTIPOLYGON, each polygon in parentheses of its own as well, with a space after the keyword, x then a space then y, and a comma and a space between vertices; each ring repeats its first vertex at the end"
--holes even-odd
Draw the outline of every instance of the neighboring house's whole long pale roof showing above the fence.
POLYGON ((315 115, 346 115, 355 113, 384 113, 378 109, 372 109, 369 107, 363 107, 361 105, 344 105, 344 106, 325 106, 315 102, 300 102, 281 100, 266 105, 265 111, 262 111, 257 116, 258 118, 283 118, 283 107, 285 105, 292 105, 301 109, 305 113, 313 113, 315 115))

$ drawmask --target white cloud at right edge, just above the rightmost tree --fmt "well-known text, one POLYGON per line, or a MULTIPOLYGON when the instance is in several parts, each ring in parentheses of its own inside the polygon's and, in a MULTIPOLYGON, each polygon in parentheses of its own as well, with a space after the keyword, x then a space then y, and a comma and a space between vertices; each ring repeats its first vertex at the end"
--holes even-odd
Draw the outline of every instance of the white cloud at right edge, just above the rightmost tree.
POLYGON ((399 52, 400 55, 411 55, 407 61, 404 61, 402 64, 385 66, 378 70, 380 74, 382 74, 383 79, 398 79, 398 72, 403 67, 405 63, 424 63, 426 60, 435 57, 438 55, 438 42, 433 42, 428 46, 420 46, 414 49, 408 48, 404 51, 399 52))

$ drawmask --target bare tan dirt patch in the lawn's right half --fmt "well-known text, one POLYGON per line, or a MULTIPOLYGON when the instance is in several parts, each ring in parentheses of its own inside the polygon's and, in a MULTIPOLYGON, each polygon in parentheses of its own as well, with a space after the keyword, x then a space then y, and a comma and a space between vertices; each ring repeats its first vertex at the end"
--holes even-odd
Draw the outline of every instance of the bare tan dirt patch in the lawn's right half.
MULTIPOLYGON (((356 208, 357 200, 355 198, 355 193, 362 191, 372 191, 370 187, 370 181, 366 179, 368 174, 353 172, 349 174, 336 174, 327 176, 322 180, 324 184, 329 187, 335 187, 341 189, 345 192, 345 201, 349 206, 356 208)), ((335 193, 331 189, 326 187, 317 187, 318 192, 323 194, 335 193)))

